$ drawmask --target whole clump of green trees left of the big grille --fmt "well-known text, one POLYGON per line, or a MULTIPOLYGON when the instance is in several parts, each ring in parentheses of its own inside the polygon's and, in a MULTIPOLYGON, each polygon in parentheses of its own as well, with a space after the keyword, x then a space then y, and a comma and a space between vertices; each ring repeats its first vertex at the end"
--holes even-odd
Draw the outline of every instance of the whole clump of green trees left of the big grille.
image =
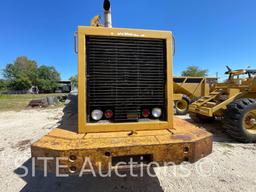
POLYGON ((29 90, 36 86, 40 92, 54 92, 60 80, 59 72, 53 66, 41 65, 25 56, 17 57, 2 71, 0 90, 29 90))

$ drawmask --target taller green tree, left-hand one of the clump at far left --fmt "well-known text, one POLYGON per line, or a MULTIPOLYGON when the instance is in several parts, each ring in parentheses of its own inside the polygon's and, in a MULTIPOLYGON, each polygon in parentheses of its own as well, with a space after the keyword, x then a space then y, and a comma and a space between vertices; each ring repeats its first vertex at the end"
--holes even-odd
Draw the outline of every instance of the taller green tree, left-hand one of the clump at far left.
POLYGON ((37 63, 27 57, 17 57, 14 63, 7 64, 3 76, 8 87, 14 90, 26 90, 35 85, 37 79, 37 63))

